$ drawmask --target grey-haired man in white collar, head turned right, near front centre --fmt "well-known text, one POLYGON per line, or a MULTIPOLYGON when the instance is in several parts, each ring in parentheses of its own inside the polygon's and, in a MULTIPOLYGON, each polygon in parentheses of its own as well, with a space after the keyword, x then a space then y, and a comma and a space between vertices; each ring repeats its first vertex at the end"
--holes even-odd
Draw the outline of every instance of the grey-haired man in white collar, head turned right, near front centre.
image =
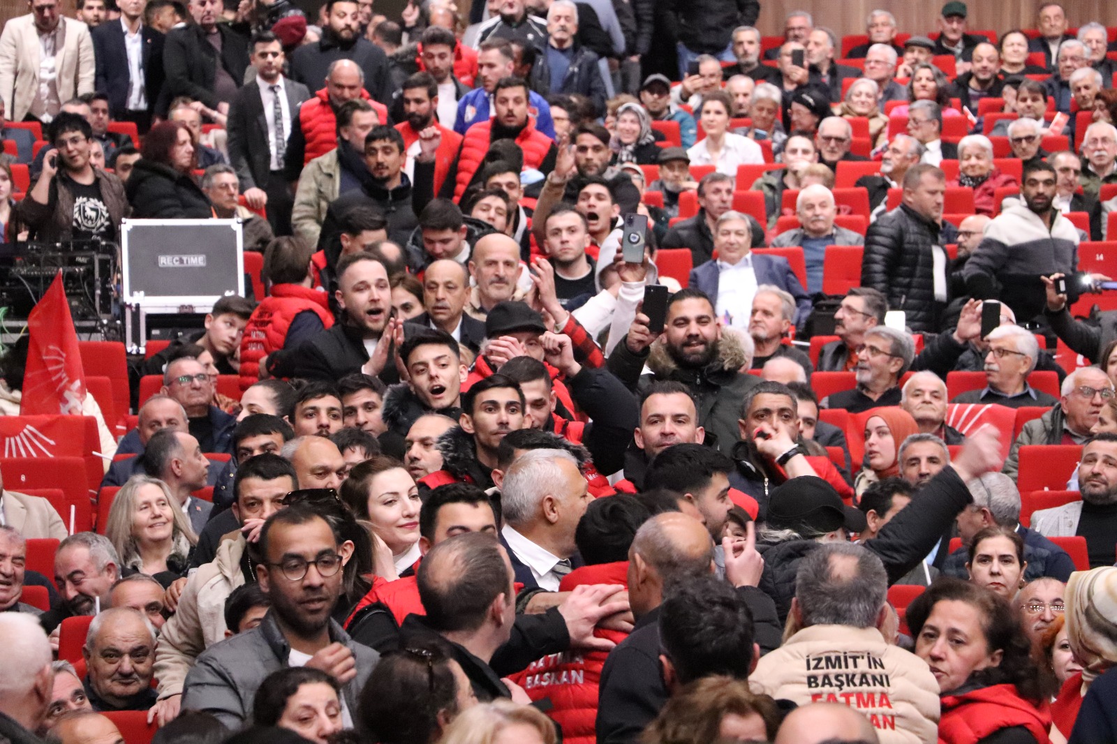
POLYGON ((535 449, 513 461, 500 488, 500 541, 517 582, 558 591, 563 576, 577 567, 574 530, 591 499, 570 452, 535 449))

